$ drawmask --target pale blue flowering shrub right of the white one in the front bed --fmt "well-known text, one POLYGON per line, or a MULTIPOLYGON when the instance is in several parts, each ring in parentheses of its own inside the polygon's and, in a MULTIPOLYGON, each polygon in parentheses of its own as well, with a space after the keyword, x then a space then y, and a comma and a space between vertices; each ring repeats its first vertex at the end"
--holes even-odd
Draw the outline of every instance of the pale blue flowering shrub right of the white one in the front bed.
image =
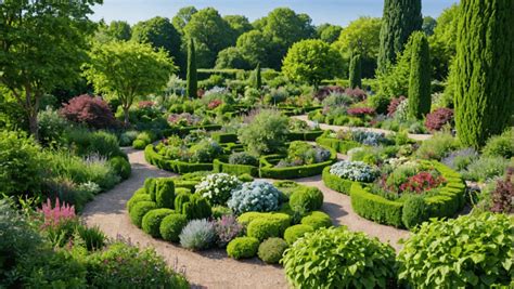
POLYGON ((229 208, 240 214, 249 211, 269 212, 279 208, 280 192, 265 181, 244 183, 232 193, 229 208))

